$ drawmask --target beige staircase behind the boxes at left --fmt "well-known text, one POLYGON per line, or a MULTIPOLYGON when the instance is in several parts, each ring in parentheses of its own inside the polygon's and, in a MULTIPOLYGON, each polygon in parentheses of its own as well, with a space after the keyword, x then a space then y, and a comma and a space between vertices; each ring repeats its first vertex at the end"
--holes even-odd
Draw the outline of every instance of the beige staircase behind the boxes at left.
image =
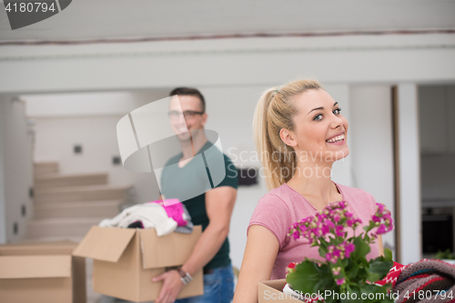
MULTIPOLYGON (((58 163, 35 163, 34 218, 27 223, 33 240, 80 242, 90 227, 115 217, 128 203, 131 186, 112 186, 104 173, 62 175, 58 163)), ((92 263, 86 259, 87 303, 99 300, 92 288, 92 263)))

